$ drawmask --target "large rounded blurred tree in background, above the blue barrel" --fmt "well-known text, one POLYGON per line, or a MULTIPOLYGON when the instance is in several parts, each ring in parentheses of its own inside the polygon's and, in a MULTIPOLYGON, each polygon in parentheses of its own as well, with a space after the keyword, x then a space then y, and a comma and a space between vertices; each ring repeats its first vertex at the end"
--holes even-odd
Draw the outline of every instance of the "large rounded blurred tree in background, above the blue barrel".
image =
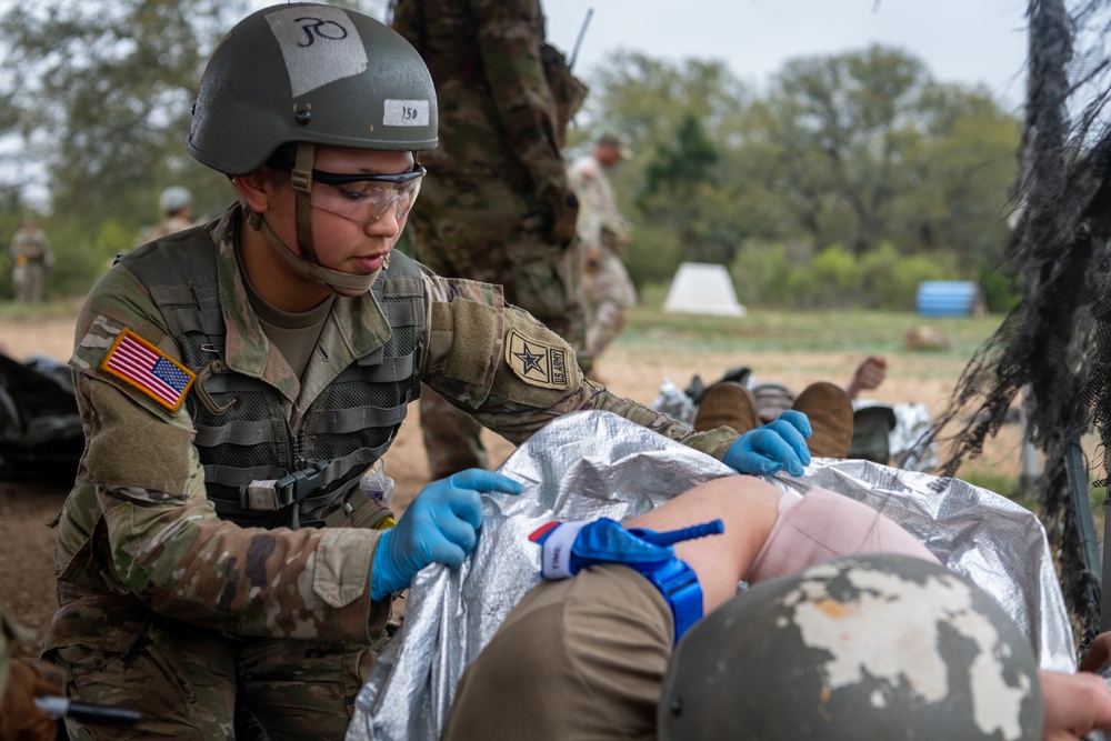
POLYGON ((1019 129, 985 91, 873 46, 787 62, 748 124, 752 179, 815 249, 1001 256, 1019 129))

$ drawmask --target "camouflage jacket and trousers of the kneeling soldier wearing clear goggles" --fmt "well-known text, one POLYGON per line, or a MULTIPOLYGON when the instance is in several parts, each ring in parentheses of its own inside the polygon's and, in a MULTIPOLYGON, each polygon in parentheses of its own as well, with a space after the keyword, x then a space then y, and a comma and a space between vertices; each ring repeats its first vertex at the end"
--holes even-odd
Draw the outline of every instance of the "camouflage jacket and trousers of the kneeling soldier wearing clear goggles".
POLYGON ((719 458, 737 439, 585 381, 500 287, 399 253, 371 292, 334 300, 297 378, 251 306, 240 228, 234 206, 129 253, 78 320, 86 452, 59 518, 61 607, 43 651, 72 697, 144 713, 114 738, 232 738, 237 702, 270 738, 342 738, 390 610, 369 589, 389 512, 357 483, 421 382, 518 443, 582 409, 719 458), (111 372, 129 337, 196 373, 179 409, 111 372))

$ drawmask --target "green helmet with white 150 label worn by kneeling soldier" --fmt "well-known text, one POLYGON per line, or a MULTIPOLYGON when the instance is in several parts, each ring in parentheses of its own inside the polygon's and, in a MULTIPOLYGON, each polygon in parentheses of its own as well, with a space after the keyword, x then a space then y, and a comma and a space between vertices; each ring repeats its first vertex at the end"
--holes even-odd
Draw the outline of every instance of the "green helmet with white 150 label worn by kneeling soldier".
POLYGON ((437 144, 436 90, 420 54, 353 10, 259 10, 220 42, 201 78, 188 148, 230 176, 282 144, 419 151, 437 144))

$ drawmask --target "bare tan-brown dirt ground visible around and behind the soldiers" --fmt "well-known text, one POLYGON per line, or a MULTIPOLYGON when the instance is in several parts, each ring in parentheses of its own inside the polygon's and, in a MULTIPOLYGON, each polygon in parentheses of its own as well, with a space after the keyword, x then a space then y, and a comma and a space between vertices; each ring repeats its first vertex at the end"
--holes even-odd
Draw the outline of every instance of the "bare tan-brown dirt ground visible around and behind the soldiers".
MULTIPOLYGON (((72 319, 19 320, 0 318, 0 347, 17 359, 41 353, 60 361, 69 358, 72 319)), ((598 368, 599 378, 614 392, 643 403, 655 398, 664 377, 685 387, 692 373, 707 381, 720 378, 724 370, 749 366, 759 379, 778 380, 801 389, 815 379, 848 380, 855 353, 714 353, 691 358, 682 353, 649 354, 642 349, 625 349, 620 342, 598 368)), ((925 403, 931 412, 940 411, 959 377, 962 364, 931 362, 924 368, 913 356, 889 358, 888 380, 877 391, 890 403, 925 403)), ((386 457, 387 472, 397 481, 396 503, 400 510, 412 500, 429 479, 420 437, 418 411, 410 410, 410 421, 386 457)), ((1004 431, 1005 433, 1005 431, 1004 431)), ((997 443, 998 452, 988 462, 994 470, 1018 467, 1017 431, 997 443)), ((513 448, 489 433, 492 462, 500 463, 513 448)), ((66 498, 64 483, 12 483, 0 481, 0 602, 40 638, 56 608, 53 583, 53 533, 48 523, 66 498)), ((27 645, 21 653, 36 653, 27 645)))

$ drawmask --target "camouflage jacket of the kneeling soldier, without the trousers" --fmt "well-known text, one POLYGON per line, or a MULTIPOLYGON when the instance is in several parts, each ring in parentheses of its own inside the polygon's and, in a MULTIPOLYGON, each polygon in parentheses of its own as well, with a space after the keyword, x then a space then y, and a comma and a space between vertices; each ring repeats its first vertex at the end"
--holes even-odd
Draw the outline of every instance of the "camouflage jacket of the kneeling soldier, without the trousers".
MULTIPOLYGON (((353 483, 389 448, 420 381, 518 443, 583 409, 615 412, 719 458, 735 440, 724 430, 691 432, 585 381, 571 349, 506 304, 499 287, 439 278, 398 253, 371 292, 334 301, 298 379, 248 300, 239 224, 233 207, 124 259, 78 320, 70 363, 86 452, 59 519, 63 609, 44 648, 87 630, 67 605, 109 595, 236 635, 369 640, 389 609, 372 603, 369 589, 373 525, 387 513, 347 492, 358 494, 353 483), (212 284, 198 280, 204 270, 187 257, 206 244, 212 284), (128 338, 198 374, 180 407, 108 368, 128 338), (250 403, 226 423, 236 400, 250 403), (266 513, 233 505, 252 493, 243 493, 244 477, 298 471, 323 481, 322 499, 300 511, 326 527, 273 527, 266 513), (328 513, 352 499, 343 527, 327 527, 328 513)), ((289 507, 298 508, 281 517, 289 507)))

